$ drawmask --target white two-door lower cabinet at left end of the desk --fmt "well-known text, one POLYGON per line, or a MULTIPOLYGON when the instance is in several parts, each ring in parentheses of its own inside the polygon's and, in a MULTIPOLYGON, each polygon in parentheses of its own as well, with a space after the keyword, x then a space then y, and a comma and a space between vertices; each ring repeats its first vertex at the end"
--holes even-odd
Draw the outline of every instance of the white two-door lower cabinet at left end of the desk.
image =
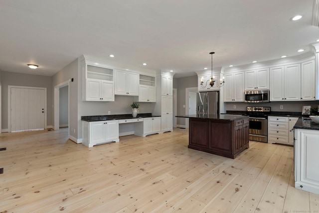
POLYGON ((119 142, 119 120, 82 121, 82 143, 87 147, 94 145, 119 142))

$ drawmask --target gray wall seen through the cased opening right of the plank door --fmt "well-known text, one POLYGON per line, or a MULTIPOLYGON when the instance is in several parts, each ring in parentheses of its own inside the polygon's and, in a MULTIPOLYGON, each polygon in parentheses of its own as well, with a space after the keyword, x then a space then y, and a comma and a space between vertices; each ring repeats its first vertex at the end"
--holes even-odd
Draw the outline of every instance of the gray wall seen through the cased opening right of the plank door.
POLYGON ((60 127, 68 127, 69 124, 69 86, 64 86, 59 89, 59 124, 60 127))

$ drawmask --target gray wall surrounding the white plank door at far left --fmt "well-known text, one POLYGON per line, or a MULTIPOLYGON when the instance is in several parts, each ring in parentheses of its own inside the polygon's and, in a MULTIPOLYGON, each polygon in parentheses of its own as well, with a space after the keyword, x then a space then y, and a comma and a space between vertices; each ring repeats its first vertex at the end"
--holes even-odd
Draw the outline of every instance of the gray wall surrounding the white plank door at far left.
MULTIPOLYGON (((40 72, 35 70, 36 72, 40 72)), ((1 71, 1 122, 2 129, 8 128, 8 86, 28 86, 46 88, 47 97, 47 125, 53 125, 53 97, 52 97, 52 77, 43 75, 29 75, 16 72, 1 71)))

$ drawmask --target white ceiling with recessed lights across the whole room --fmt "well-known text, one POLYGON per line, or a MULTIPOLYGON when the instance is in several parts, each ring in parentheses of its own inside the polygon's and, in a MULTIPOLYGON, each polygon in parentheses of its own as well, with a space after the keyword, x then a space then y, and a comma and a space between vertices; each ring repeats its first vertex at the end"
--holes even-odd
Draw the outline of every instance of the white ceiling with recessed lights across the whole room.
POLYGON ((296 56, 319 39, 314 1, 1 0, 0 70, 52 76, 85 54, 183 77, 211 51, 214 67, 296 56))

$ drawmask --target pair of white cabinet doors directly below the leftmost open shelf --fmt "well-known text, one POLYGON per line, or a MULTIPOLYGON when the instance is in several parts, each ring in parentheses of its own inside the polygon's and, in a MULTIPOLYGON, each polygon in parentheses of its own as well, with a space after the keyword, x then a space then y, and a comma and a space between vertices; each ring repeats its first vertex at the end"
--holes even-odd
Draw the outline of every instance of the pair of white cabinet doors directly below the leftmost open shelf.
POLYGON ((98 79, 86 80, 87 101, 114 101, 114 83, 98 79))

